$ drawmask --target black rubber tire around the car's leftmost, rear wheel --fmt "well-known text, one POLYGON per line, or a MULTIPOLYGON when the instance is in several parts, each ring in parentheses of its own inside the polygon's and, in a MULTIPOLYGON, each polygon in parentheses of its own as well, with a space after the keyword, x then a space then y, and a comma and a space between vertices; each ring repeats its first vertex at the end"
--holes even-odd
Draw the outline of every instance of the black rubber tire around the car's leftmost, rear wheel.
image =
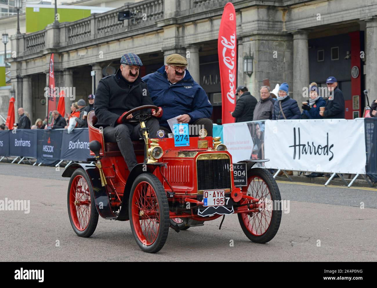
POLYGON ((76 169, 72 173, 71 178, 69 180, 68 193, 67 193, 67 207, 68 207, 69 222, 70 222, 73 230, 77 234, 77 236, 80 236, 80 237, 90 237, 90 236, 92 236, 92 234, 95 231, 95 228, 97 227, 97 223, 98 223, 98 211, 97 211, 97 207, 95 205, 94 192, 93 192, 92 184, 90 182, 90 179, 89 179, 88 175, 86 174, 86 172, 82 168, 76 169), (83 176, 83 178, 85 179, 85 181, 88 184, 89 191, 90 191, 90 218, 89 218, 89 224, 87 225, 87 227, 83 231, 78 230, 76 228, 75 224, 73 223, 72 215, 70 213, 70 206, 69 206, 70 187, 72 185, 73 179, 76 176, 78 176, 78 175, 83 176))

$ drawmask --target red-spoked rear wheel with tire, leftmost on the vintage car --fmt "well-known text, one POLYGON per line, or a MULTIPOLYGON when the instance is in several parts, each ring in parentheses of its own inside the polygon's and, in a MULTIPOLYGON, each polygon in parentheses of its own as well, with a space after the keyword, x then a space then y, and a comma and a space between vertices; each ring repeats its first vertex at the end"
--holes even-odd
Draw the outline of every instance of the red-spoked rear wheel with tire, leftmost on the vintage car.
POLYGON ((84 169, 76 169, 69 180, 68 216, 75 233, 80 237, 93 234, 98 222, 93 188, 84 169))

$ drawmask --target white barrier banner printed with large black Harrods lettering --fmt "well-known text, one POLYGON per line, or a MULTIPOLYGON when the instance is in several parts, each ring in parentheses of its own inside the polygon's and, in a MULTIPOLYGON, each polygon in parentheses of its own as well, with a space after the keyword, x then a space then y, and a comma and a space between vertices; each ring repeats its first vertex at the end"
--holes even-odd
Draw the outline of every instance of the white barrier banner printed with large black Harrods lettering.
MULTIPOLYGON (((266 168, 365 174, 364 119, 265 122, 266 168)), ((245 153, 246 154, 246 153, 245 153)))

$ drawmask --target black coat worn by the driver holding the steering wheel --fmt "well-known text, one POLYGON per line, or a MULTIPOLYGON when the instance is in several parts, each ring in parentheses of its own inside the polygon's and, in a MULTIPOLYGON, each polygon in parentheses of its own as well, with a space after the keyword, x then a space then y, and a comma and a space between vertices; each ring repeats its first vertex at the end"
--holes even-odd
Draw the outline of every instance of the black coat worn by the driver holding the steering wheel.
MULTIPOLYGON (((133 83, 128 83, 118 69, 114 75, 102 78, 98 84, 94 101, 94 111, 98 118, 96 126, 114 127, 116 120, 124 112, 143 105, 154 105, 147 84, 140 77, 133 83)), ((133 113, 133 116, 138 113, 139 111, 133 113)))

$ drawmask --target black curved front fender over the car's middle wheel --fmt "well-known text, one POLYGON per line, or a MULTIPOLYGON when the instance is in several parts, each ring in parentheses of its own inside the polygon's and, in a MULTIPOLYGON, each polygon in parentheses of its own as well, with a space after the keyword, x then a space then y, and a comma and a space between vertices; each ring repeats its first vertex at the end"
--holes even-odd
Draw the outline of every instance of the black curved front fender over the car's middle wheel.
POLYGON ((126 221, 129 219, 128 213, 128 199, 130 197, 132 184, 135 181, 136 177, 141 173, 152 173, 159 166, 166 165, 167 162, 157 162, 157 163, 139 163, 130 172, 130 175, 127 178, 126 185, 124 186, 123 199, 122 199, 122 208, 119 212, 118 218, 116 220, 126 221))

